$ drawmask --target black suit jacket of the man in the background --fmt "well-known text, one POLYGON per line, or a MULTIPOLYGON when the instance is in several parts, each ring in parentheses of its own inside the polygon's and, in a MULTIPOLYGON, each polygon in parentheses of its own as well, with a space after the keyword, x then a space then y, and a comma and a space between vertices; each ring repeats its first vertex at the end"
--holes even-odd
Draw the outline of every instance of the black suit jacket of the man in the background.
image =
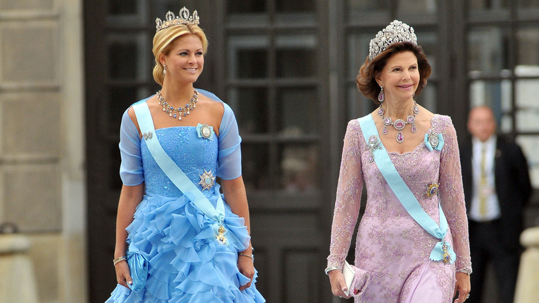
MULTIPOLYGON (((473 197, 471 139, 460 148, 462 163, 462 183, 466 208, 471 208, 473 197)), ((522 149, 509 138, 498 136, 494 162, 495 191, 500 203, 502 231, 500 243, 507 249, 520 248, 522 232, 522 212, 531 195, 528 163, 522 149)))

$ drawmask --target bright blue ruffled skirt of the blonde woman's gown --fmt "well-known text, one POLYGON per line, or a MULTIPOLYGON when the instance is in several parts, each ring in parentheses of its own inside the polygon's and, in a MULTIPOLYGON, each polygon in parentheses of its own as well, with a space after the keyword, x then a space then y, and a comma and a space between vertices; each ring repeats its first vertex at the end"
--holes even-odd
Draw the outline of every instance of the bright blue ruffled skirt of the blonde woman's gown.
POLYGON ((256 273, 251 286, 239 291, 249 282, 237 266, 250 239, 243 218, 225 204, 228 245, 216 241, 214 223, 186 196, 144 196, 126 230, 129 251, 149 260, 148 279, 137 293, 118 284, 106 303, 265 302, 256 273))

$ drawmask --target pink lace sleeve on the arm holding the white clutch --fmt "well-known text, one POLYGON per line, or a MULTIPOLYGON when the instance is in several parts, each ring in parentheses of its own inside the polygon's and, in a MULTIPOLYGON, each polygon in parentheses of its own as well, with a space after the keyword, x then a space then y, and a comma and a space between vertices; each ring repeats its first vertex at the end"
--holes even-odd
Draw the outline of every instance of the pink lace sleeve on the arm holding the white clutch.
POLYGON ((362 139, 359 131, 361 130, 357 120, 348 123, 344 137, 326 273, 334 269, 342 270, 359 215, 363 187, 359 149, 362 139))

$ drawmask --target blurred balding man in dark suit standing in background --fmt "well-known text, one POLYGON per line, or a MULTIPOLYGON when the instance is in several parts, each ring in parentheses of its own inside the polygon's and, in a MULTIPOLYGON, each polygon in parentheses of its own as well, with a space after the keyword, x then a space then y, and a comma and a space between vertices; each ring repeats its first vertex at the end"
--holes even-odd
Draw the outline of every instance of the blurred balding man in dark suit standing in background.
POLYGON ((531 194, 527 160, 513 140, 495 135, 489 107, 470 111, 468 130, 472 138, 460 149, 473 268, 466 303, 481 302, 487 264, 493 265, 501 302, 510 303, 520 261, 522 211, 531 194))

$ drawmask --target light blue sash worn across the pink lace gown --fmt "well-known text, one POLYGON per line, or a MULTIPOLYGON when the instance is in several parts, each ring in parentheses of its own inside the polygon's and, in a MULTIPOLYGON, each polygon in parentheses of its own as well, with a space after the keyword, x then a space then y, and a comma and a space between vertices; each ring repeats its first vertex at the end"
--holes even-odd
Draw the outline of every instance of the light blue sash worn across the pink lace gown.
MULTIPOLYGON (((372 120, 371 115, 367 115, 363 118, 359 118, 359 125, 361 126, 361 131, 363 132, 363 137, 367 145, 369 144, 369 138, 371 136, 376 136, 377 140, 379 139, 378 130, 376 129, 375 120, 372 120)), ((378 145, 379 148, 371 149, 372 155, 374 156, 375 163, 378 166, 382 176, 386 178, 389 187, 397 196, 397 199, 404 206, 408 214, 428 232, 433 235, 433 237, 440 239, 433 251, 431 252, 431 260, 440 261, 444 259, 446 262, 453 264, 455 262, 456 254, 444 238, 446 237, 448 225, 447 219, 442 210, 442 205, 438 203, 439 208, 439 226, 437 223, 423 210, 419 202, 415 198, 413 192, 408 188, 408 185, 404 183, 399 172, 391 162, 388 152, 383 144, 378 145), (451 259, 447 259, 451 257, 451 259)))

